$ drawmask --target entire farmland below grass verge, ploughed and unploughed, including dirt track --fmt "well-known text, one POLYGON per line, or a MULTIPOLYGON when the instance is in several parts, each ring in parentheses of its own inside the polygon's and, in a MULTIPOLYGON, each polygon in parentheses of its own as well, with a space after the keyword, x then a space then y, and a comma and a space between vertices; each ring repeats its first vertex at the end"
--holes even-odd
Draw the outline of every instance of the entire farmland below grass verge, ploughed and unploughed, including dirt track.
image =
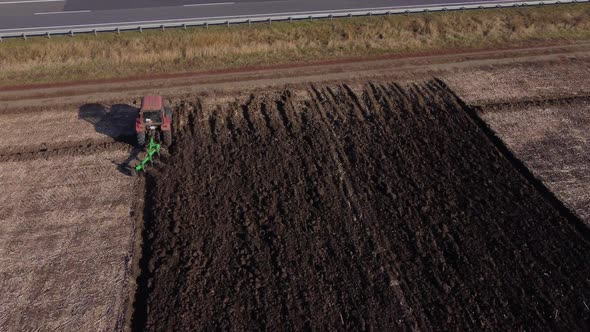
POLYGON ((577 43, 4 89, 0 330, 588 330, 589 64, 577 43), (130 177, 153 93, 175 141, 130 177))

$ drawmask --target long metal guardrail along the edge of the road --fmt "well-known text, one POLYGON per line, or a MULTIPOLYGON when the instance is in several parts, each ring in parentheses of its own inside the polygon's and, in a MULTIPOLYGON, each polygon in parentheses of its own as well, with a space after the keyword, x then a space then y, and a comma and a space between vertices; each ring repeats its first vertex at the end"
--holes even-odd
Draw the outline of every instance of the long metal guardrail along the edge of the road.
POLYGON ((98 34, 99 32, 123 32, 123 31, 143 31, 150 29, 174 29, 174 28, 189 28, 189 27, 209 27, 209 26, 231 26, 236 24, 254 24, 285 21, 301 21, 314 19, 334 19, 346 17, 370 17, 370 16, 386 16, 425 12, 444 12, 444 11, 459 11, 459 10, 473 10, 473 9, 490 9, 490 8, 511 8, 511 7, 527 7, 527 6, 543 6, 543 5, 558 5, 566 3, 585 3, 590 0, 548 0, 548 1, 514 1, 514 2, 489 2, 481 4, 451 4, 440 6, 416 6, 411 8, 388 7, 388 8, 374 8, 363 10, 334 10, 331 12, 308 12, 305 14, 284 13, 279 15, 244 15, 244 16, 228 16, 228 17, 212 17, 206 19, 170 19, 161 21, 143 22, 123 22, 123 23, 101 23, 77 25, 72 27, 56 27, 56 28, 22 28, 20 31, 0 32, 0 42, 3 38, 24 38, 34 36, 52 35, 71 35, 76 34, 98 34))

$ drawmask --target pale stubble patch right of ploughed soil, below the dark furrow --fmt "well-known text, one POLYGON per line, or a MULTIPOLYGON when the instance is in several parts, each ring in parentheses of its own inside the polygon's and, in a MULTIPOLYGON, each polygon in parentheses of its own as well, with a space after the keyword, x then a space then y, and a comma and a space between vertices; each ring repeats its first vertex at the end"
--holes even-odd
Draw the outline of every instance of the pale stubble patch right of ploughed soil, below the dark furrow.
POLYGON ((590 98, 491 106, 481 116, 590 226, 590 98))

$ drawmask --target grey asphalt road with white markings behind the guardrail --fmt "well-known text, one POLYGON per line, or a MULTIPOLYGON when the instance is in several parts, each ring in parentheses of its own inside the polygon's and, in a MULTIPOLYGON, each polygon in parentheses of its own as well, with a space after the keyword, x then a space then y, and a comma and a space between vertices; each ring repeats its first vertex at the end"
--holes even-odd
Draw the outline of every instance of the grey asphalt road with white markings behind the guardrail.
POLYGON ((385 8, 490 4, 490 0, 0 0, 0 35, 65 29, 311 15, 385 8))

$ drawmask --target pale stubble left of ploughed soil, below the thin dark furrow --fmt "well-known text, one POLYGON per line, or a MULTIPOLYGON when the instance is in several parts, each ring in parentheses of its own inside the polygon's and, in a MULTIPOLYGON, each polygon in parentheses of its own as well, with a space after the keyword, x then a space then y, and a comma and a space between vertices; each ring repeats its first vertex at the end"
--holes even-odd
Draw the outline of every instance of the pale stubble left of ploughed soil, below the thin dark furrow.
POLYGON ((0 330, 124 327, 140 185, 126 157, 0 162, 0 330))

